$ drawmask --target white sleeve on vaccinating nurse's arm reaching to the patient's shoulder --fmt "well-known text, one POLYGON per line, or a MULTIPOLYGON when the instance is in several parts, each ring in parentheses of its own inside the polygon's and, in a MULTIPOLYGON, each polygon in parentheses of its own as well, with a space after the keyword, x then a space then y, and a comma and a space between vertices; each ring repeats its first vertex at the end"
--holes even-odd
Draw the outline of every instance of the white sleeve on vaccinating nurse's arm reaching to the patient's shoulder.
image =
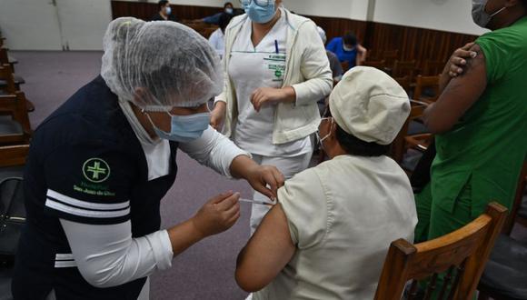
POLYGON ((232 178, 231 164, 240 155, 252 157, 249 153, 238 148, 237 145, 209 126, 204 134, 190 142, 181 143, 179 148, 198 163, 206 165, 219 174, 232 178))

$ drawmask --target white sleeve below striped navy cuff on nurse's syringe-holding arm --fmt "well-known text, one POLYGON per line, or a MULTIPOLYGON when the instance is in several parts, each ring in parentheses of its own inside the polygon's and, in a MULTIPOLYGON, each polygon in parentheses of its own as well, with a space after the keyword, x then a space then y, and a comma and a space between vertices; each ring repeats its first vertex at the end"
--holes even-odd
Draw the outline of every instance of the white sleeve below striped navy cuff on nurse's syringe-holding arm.
POLYGON ((172 266, 166 230, 132 238, 132 225, 87 225, 60 219, 85 280, 95 287, 124 285, 172 266))

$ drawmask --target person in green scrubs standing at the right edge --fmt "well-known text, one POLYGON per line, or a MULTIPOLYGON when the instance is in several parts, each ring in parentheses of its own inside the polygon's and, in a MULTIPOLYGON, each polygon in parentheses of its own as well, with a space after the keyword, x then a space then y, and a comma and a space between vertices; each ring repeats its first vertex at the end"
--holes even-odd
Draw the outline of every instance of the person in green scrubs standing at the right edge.
POLYGON ((492 201, 512 207, 527 157, 526 15, 526 0, 472 1, 474 22, 492 32, 468 49, 476 54, 464 58, 462 75, 452 73, 425 111, 437 155, 430 196, 417 201, 423 239, 470 223, 492 201))

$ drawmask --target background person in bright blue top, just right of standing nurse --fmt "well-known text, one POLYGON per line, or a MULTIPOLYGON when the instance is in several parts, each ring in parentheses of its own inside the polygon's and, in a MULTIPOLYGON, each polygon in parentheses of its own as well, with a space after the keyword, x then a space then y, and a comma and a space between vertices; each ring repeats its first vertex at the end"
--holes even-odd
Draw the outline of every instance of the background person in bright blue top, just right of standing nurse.
POLYGON ((357 42, 357 37, 353 33, 334 37, 326 45, 326 49, 337 55, 341 63, 348 62, 350 69, 355 65, 363 65, 366 61, 367 50, 357 42))

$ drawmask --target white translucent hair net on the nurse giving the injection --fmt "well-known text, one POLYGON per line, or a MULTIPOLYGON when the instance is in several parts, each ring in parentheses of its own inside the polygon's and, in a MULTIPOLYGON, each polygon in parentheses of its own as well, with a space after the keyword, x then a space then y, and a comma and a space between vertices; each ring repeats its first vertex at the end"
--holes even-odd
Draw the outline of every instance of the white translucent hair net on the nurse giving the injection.
POLYGON ((122 17, 104 35, 106 85, 147 111, 202 105, 222 92, 223 74, 214 48, 185 25, 122 17))

